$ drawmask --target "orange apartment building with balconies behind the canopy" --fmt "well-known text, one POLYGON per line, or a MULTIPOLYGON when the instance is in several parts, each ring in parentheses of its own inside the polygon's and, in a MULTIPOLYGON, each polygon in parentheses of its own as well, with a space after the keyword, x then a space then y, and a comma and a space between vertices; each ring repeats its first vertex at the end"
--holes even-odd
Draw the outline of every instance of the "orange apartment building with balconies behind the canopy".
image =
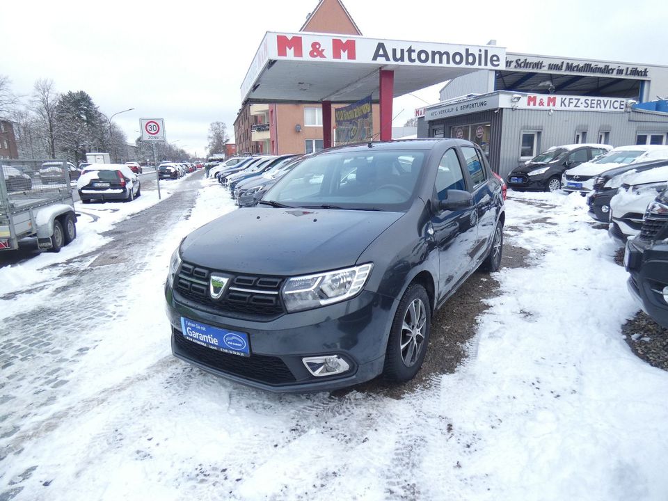
MULTIPOLYGON (((300 31, 362 35, 340 0, 320 0, 300 31)), ((332 109, 343 106, 333 105, 332 109)), ((372 117, 374 134, 378 134, 378 104, 372 107, 372 117)), ((323 148, 321 106, 319 103, 245 103, 239 110, 237 120, 234 120, 234 138, 239 153, 299 154, 319 151, 323 148)), ((332 138, 335 141, 334 132, 332 138)))

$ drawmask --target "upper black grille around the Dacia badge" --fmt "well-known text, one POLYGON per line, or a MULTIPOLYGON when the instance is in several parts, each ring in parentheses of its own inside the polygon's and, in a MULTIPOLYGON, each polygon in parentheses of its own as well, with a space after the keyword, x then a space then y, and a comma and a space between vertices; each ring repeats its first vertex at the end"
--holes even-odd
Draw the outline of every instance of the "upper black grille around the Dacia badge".
POLYGON ((176 289, 185 299, 202 305, 205 310, 223 313, 229 317, 247 320, 271 320, 283 315, 280 287, 283 278, 272 276, 239 275, 221 271, 230 278, 220 299, 209 294, 212 271, 183 262, 176 280, 176 289))

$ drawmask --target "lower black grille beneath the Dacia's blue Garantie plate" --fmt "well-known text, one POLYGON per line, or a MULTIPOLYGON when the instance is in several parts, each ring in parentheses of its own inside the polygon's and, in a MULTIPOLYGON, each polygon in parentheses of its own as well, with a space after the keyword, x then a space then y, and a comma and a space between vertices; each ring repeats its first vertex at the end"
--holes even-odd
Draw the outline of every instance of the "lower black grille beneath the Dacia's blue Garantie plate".
POLYGON ((230 355, 186 340, 181 331, 173 328, 174 342, 186 358, 234 376, 260 383, 282 385, 296 382, 285 362, 278 357, 251 354, 249 357, 230 355))

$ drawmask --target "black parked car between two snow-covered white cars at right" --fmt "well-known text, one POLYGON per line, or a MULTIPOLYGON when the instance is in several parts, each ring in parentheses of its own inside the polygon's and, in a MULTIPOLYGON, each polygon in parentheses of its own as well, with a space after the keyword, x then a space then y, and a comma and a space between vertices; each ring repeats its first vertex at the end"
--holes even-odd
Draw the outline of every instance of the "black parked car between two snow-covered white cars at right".
POLYGON ((610 200, 617 195, 619 186, 626 181, 626 178, 635 173, 662 166, 668 166, 668 160, 623 164, 597 175, 594 177, 594 189, 587 196, 589 206, 587 214, 595 221, 610 222, 610 200))

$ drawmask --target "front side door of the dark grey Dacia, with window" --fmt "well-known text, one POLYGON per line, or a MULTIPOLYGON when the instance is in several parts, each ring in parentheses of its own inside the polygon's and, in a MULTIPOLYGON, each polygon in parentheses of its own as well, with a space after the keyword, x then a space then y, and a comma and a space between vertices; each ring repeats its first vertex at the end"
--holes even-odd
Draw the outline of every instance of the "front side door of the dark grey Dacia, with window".
MULTIPOLYGON (((441 157, 434 183, 434 200, 445 200, 448 190, 468 191, 456 148, 441 157)), ((477 239, 475 207, 455 211, 434 209, 431 216, 434 240, 438 246, 439 297, 447 296, 471 267, 472 248, 477 239)))

